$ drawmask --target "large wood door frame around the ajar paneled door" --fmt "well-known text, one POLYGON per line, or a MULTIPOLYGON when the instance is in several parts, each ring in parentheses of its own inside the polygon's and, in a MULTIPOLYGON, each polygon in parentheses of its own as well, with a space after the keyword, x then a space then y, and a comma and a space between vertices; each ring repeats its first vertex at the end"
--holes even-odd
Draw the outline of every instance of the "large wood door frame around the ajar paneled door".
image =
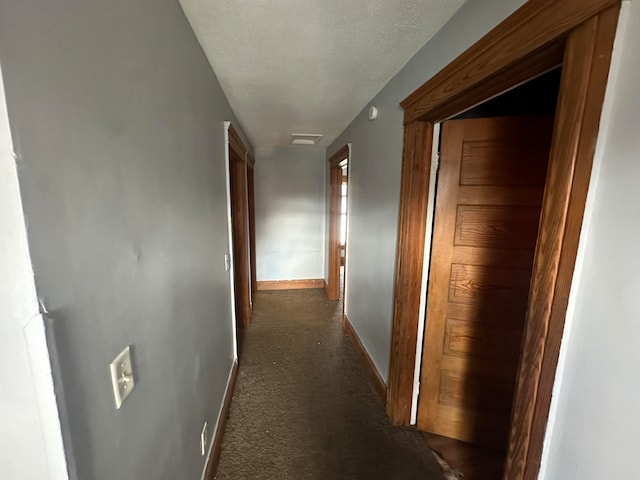
POLYGON ((529 0, 402 103, 404 147, 387 412, 412 405, 434 124, 563 66, 504 478, 535 479, 620 0, 529 0))

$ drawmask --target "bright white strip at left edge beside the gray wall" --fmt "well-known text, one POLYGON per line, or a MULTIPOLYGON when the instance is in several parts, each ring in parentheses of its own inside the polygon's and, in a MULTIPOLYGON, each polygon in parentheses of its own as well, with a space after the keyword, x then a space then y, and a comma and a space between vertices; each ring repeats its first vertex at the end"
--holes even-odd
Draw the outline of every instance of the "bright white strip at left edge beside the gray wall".
POLYGON ((0 69, 0 478, 68 478, 0 69), (6 432, 9 432, 8 434, 6 432))

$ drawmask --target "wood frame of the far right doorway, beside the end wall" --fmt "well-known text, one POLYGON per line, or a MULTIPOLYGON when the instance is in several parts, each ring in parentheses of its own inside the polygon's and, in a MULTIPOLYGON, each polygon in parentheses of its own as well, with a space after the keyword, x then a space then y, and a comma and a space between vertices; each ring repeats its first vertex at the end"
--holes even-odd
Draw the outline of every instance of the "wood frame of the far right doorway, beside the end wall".
POLYGON ((328 160, 329 162, 329 239, 327 297, 329 300, 340 298, 340 189, 342 188, 342 169, 340 164, 349 161, 349 145, 345 145, 328 160))

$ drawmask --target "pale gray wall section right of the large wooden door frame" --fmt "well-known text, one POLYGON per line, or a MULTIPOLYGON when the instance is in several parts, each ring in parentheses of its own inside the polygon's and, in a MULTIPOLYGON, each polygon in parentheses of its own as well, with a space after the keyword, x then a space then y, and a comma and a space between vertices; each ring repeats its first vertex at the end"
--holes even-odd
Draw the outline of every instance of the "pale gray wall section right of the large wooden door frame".
POLYGON ((547 426, 544 480, 638 476, 640 2, 623 6, 547 426))

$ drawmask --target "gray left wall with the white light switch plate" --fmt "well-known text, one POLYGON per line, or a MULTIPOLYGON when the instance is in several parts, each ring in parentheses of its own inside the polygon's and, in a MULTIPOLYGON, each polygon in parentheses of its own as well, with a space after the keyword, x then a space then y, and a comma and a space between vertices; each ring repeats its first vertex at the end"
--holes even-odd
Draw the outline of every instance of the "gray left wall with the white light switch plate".
POLYGON ((200 478, 232 363, 225 96, 174 0, 2 0, 0 64, 78 478, 200 478))

